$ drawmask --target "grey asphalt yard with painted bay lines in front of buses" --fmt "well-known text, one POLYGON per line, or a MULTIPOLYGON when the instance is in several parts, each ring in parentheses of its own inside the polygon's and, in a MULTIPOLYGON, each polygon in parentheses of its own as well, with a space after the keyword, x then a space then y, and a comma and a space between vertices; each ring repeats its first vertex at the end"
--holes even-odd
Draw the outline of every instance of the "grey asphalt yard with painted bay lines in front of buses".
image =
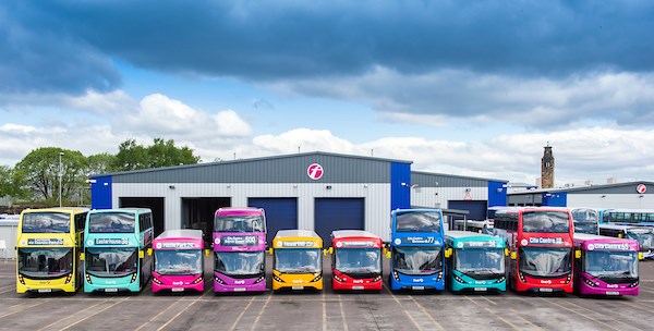
POLYGON ((334 293, 328 259, 322 292, 215 295, 210 266, 199 294, 33 297, 15 293, 15 262, 0 261, 0 330, 654 330, 654 261, 640 265, 639 296, 609 298, 334 293))

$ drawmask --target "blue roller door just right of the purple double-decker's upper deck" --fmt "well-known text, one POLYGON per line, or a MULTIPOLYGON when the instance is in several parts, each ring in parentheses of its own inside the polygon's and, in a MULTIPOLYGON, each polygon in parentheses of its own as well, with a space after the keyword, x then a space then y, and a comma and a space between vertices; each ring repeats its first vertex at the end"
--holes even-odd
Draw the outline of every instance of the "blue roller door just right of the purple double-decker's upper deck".
POLYGON ((266 211, 268 246, 277 231, 298 229, 298 198, 250 198, 247 206, 266 211))

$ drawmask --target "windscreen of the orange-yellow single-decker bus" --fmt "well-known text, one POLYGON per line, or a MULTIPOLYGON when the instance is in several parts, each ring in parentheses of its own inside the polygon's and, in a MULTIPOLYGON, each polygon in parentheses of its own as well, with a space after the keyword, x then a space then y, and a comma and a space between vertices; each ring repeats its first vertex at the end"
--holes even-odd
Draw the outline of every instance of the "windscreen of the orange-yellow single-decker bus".
POLYGON ((320 249, 275 249, 275 270, 283 273, 315 273, 323 271, 320 249))

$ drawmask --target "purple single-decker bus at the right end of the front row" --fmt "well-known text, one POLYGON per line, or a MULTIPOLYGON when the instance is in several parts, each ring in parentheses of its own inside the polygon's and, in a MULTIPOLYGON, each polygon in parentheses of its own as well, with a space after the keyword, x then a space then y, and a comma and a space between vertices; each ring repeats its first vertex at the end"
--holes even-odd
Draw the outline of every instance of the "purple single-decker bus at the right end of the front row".
POLYGON ((581 295, 638 295, 638 242, 574 234, 574 292, 581 295))

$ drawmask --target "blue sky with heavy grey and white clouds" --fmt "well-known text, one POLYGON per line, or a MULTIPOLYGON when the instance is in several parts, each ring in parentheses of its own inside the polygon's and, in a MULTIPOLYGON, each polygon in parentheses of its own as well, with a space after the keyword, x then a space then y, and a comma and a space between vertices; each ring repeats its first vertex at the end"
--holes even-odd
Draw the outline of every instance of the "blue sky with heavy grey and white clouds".
POLYGON ((174 139, 535 183, 654 180, 654 2, 0 2, 0 166, 174 139))

